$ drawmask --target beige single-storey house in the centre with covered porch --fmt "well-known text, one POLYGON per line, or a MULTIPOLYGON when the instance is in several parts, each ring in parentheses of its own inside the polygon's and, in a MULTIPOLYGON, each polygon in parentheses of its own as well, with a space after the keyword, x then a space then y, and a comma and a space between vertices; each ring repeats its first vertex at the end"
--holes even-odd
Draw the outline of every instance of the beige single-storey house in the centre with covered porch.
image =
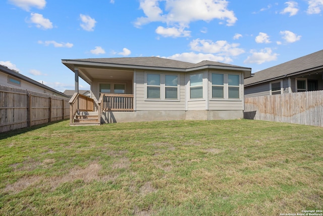
POLYGON ((75 73, 71 125, 243 118, 244 78, 251 68, 158 57, 62 60, 75 73), (91 97, 78 90, 81 77, 91 97))

